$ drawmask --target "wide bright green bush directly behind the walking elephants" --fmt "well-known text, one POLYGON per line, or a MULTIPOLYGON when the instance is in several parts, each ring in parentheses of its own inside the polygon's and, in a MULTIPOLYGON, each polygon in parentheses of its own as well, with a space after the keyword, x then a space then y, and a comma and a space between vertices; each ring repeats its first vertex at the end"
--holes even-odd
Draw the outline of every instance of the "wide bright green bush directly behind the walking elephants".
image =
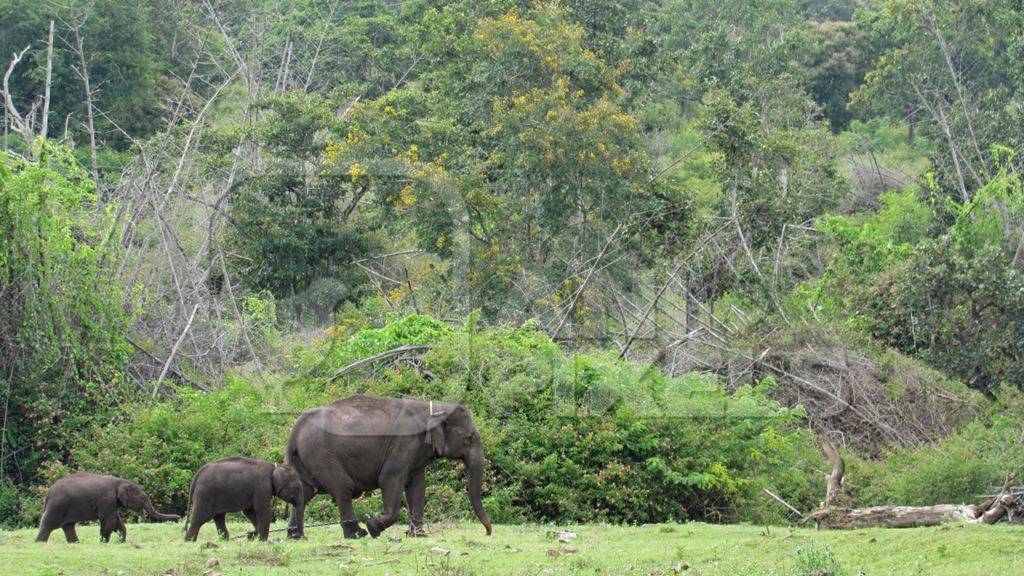
MULTIPOLYGON (((466 403, 489 459, 485 506, 497 522, 761 521, 779 513, 760 496, 766 487, 812 507, 817 452, 802 412, 766 399, 770 383, 729 396, 715 376, 671 378, 609 354, 565 355, 530 326, 478 330, 473 319, 453 328, 410 317, 315 347, 347 363, 413 341, 433 342, 419 369, 402 362, 327 385, 332 360, 280 388, 236 377, 213 393, 182 390, 83 435, 75 463, 132 478, 158 505, 181 511, 204 462, 280 459, 301 410, 366 393, 466 403)), ((430 467, 431 518, 468 515, 460 467, 430 467)), ((317 510, 336 518, 326 498, 317 510)))

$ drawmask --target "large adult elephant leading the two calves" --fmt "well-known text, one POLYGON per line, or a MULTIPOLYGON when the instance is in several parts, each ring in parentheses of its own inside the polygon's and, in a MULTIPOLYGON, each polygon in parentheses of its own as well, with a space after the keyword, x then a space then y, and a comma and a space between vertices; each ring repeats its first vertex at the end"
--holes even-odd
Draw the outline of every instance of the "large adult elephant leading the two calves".
MULTIPOLYGON (((461 404, 351 396, 304 412, 292 427, 285 460, 306 485, 306 501, 330 494, 346 538, 377 537, 398 520, 402 494, 409 535, 423 536, 427 464, 437 457, 462 460, 473 512, 490 535, 483 510, 483 449, 473 420, 461 404), (384 513, 359 527, 352 498, 380 488, 384 513)), ((301 538, 302 510, 292 512, 289 537, 301 538)))

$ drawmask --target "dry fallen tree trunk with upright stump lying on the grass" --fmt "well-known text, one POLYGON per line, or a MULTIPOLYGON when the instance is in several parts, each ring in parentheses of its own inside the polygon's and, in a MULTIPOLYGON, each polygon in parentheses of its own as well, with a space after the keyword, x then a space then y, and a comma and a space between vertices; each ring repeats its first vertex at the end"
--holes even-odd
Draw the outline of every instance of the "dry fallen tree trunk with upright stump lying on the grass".
POLYGON ((1014 488, 1013 477, 1008 476, 999 492, 978 505, 935 504, 851 508, 843 491, 846 463, 830 441, 823 440, 821 448, 833 465, 831 474, 825 477, 827 485, 825 500, 817 510, 804 520, 804 522, 814 521, 818 529, 918 528, 947 522, 995 524, 1004 517, 1012 516, 1015 507, 1020 504, 1019 500, 1024 496, 1024 493, 1014 488))

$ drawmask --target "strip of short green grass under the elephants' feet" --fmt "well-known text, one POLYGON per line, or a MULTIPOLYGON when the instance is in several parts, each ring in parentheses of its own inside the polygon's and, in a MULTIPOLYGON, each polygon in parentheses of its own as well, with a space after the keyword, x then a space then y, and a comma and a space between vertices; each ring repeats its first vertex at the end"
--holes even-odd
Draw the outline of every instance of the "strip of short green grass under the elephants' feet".
MULTIPOLYGON (((229 528, 232 534, 247 530, 229 528)), ((127 543, 111 544, 99 542, 96 526, 80 526, 82 542, 70 545, 59 531, 48 543, 36 544, 34 531, 18 530, 0 532, 0 574, 1024 574, 1021 527, 767 533, 756 526, 703 524, 561 529, 578 537, 560 543, 555 527, 497 526, 488 538, 479 525, 462 524, 432 527, 428 538, 406 538, 392 527, 380 539, 351 541, 341 538, 340 528, 323 527, 310 528, 302 542, 271 538, 261 544, 214 541, 214 527, 208 525, 198 543, 185 543, 181 524, 143 524, 129 525, 127 543)))

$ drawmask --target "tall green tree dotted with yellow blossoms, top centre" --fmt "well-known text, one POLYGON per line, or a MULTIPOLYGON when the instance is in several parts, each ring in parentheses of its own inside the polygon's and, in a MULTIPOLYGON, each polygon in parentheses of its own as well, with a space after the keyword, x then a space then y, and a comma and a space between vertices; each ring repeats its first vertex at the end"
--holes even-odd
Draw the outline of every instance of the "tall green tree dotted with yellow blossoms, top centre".
MULTIPOLYGON (((626 219, 641 220, 638 240, 624 243, 630 256, 646 239, 675 242, 687 195, 652 181, 620 71, 588 48, 565 8, 478 8, 427 14, 425 49, 439 66, 360 101, 338 156, 366 172, 376 221, 447 260, 452 274, 432 275, 442 298, 521 318, 550 304, 521 301, 523 277, 557 290, 571 254, 596 253, 626 219)), ((623 260, 607 274, 628 276, 623 260)))

